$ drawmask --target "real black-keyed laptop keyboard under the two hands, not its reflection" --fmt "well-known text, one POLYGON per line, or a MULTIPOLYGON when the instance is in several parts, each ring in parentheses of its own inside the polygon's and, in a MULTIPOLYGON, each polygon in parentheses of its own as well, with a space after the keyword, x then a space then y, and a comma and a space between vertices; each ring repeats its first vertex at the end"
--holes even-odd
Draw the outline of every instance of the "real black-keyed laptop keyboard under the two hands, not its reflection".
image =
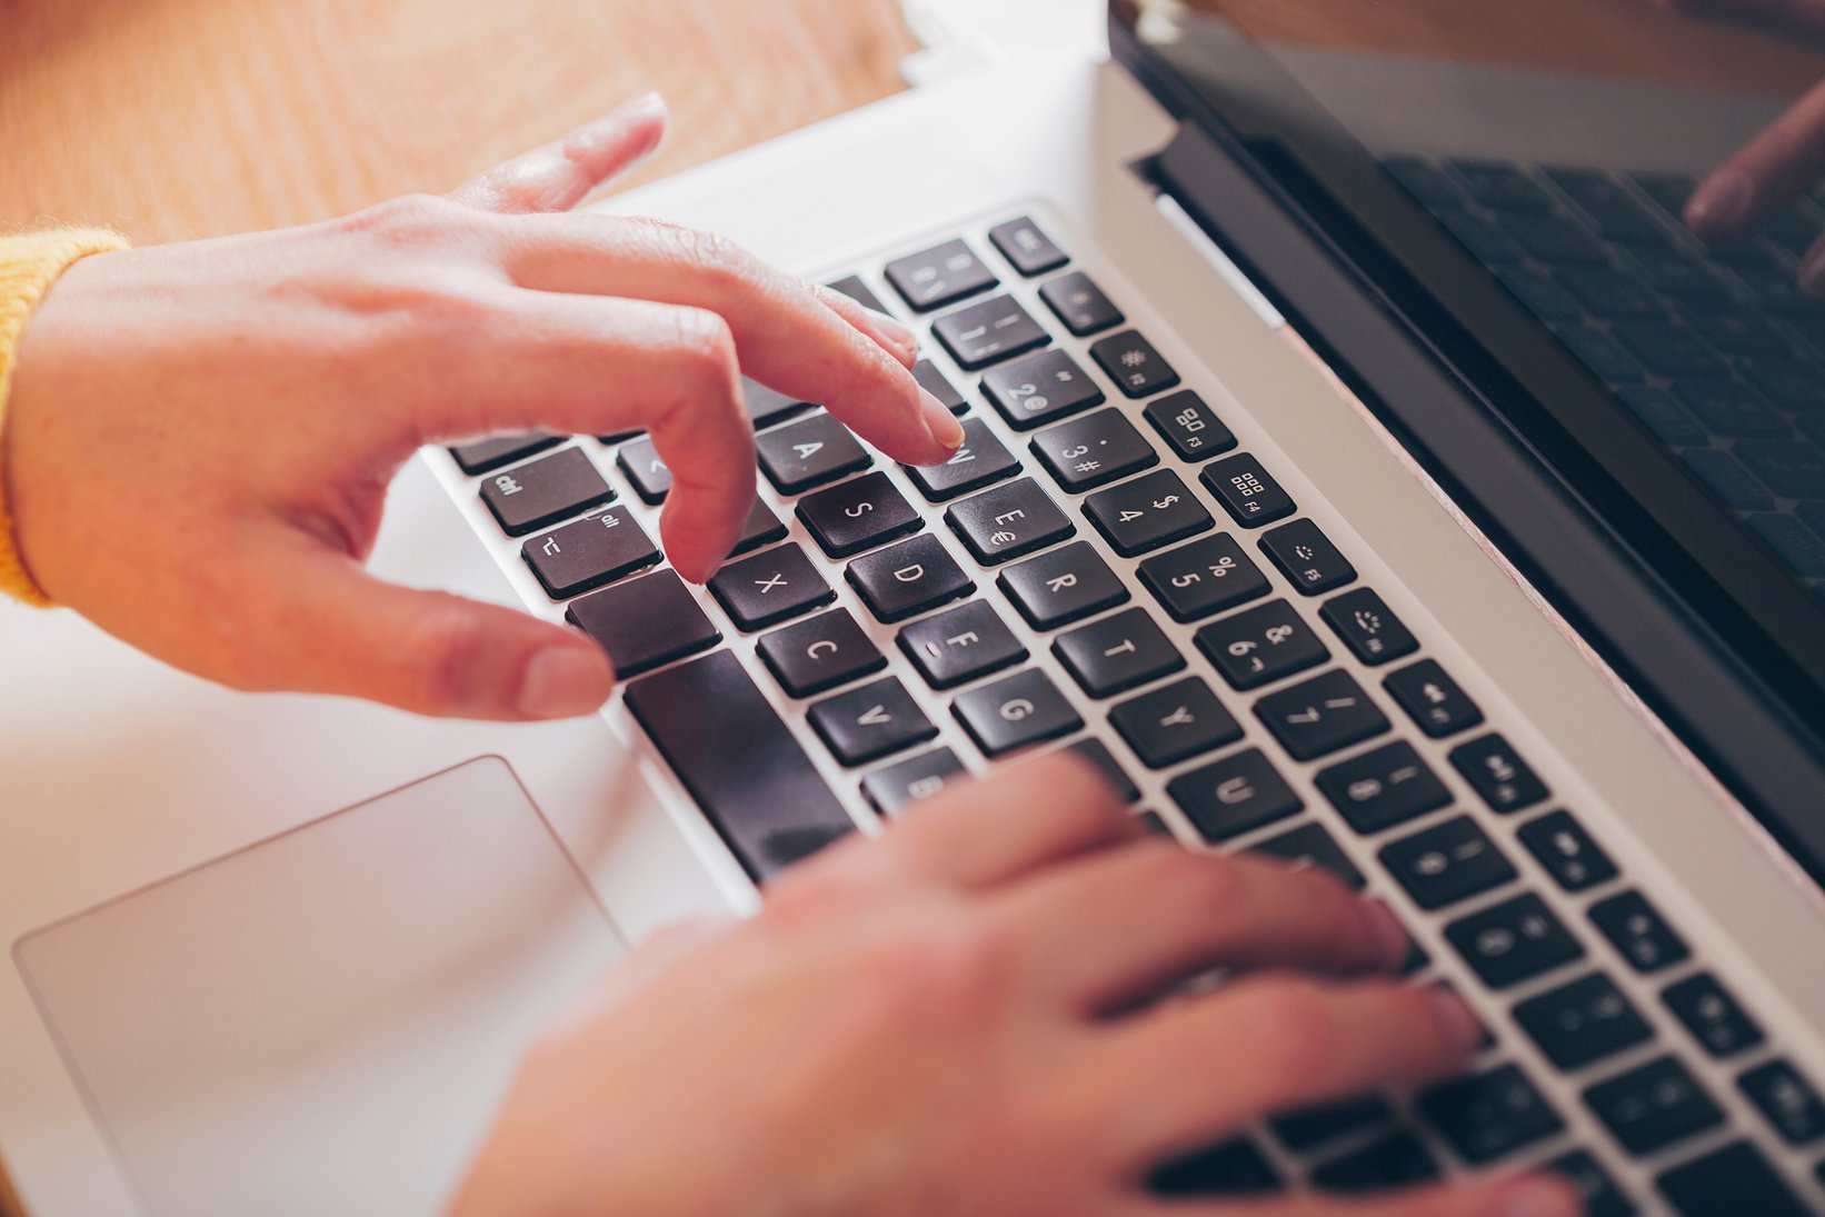
MULTIPOLYGON (((1546 188, 1540 206, 1493 175, 1484 195, 1526 201, 1511 235, 1438 177, 1416 179, 1422 197, 1464 208, 1473 239, 1573 270, 1602 270, 1637 223, 1619 206, 1613 232, 1571 235, 1546 188)), ((706 591, 652 542, 670 471, 646 438, 453 449, 741 867, 761 881, 995 759, 1077 748, 1155 832, 1385 900, 1414 936, 1407 971, 1489 1020, 1469 1077, 1283 1113, 1163 1166, 1155 1190, 1549 1164, 1599 1215, 1825 1212, 1799 1199, 1825 1195, 1810 1160, 1787 1153, 1825 1148, 1825 1109, 1723 962, 1692 956, 1509 743, 1522 724, 1429 653, 1405 593, 1371 586, 1329 507, 1183 383, 1090 252, 1057 223, 993 219, 832 279, 929 327, 918 376, 962 416, 964 447, 889 465, 816 405, 750 385, 765 484, 706 591), (1757 1204, 1717 1199, 1739 1195, 1757 1204)), ((1695 365, 1653 347, 1675 345, 1670 325, 1633 341, 1695 365)), ((1639 361, 1628 338, 1588 332, 1639 361)))

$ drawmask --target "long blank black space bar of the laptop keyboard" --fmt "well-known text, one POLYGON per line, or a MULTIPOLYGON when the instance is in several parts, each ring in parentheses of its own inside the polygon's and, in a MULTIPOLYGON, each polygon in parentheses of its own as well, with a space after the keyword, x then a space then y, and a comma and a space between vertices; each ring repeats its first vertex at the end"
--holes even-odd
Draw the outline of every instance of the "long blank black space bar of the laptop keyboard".
POLYGON ((732 651, 635 681, 626 697, 679 783, 756 881, 854 827, 732 651))

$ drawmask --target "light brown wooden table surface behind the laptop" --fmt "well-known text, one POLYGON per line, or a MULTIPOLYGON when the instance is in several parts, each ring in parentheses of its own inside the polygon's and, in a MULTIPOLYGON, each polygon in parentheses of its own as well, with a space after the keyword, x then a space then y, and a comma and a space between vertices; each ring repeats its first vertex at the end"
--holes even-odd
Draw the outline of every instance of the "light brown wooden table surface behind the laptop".
MULTIPOLYGON (((1290 40, 1723 86, 1820 75, 1648 0, 1195 2, 1290 40), (1442 46, 1427 22, 1465 4, 1493 36, 1442 46)), ((911 47, 898 0, 0 0, 0 230, 150 243, 321 219, 454 186, 642 89, 675 111, 644 175, 677 172, 898 89, 911 47)))

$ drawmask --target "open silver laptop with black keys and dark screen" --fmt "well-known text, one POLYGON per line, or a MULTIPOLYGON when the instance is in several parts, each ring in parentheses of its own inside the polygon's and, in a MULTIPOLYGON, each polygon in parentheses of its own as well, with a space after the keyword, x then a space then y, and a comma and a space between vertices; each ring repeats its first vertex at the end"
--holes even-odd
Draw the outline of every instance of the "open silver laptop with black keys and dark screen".
POLYGON ((595 637, 599 719, 237 697, 7 609, 31 1212, 436 1212, 631 943, 1075 748, 1186 848, 1387 901, 1489 1033, 1161 1191, 1548 1166, 1606 1217, 1825 1213, 1825 208, 1679 221, 1821 64, 1648 5, 1374 7, 1314 44, 1111 0, 1102 57, 922 4, 918 89, 611 199, 914 325, 967 440, 903 469, 752 387, 701 589, 639 434, 425 452, 381 571, 595 637))

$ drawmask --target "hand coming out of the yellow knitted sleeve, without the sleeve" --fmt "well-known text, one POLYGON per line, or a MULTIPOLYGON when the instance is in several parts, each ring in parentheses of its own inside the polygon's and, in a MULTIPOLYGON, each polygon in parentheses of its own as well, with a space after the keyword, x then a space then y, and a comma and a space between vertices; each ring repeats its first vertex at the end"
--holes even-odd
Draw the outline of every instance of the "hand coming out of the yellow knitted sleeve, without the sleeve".
POLYGON ((487 719, 599 706, 613 673, 580 633, 361 569, 420 445, 644 427, 675 474, 666 555, 703 580, 754 504, 743 372, 894 460, 962 440, 891 317, 717 237, 555 213, 662 131, 641 99, 447 199, 71 266, 26 328, 7 407, 27 569, 235 688, 487 719))

